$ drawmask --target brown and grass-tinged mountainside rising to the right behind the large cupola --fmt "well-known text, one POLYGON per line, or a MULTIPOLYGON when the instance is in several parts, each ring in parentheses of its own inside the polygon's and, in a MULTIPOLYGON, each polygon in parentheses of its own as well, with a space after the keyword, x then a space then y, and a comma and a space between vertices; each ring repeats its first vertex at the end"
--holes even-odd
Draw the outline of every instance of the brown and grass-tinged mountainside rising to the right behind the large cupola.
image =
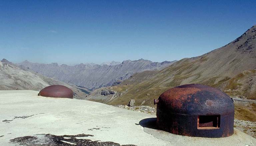
POLYGON ((256 26, 227 45, 201 56, 184 58, 160 71, 134 74, 118 86, 100 88, 88 100, 110 105, 154 106, 164 91, 184 84, 203 84, 218 88, 230 96, 256 99, 256 26), (116 94, 108 98, 99 95, 102 90, 116 94))

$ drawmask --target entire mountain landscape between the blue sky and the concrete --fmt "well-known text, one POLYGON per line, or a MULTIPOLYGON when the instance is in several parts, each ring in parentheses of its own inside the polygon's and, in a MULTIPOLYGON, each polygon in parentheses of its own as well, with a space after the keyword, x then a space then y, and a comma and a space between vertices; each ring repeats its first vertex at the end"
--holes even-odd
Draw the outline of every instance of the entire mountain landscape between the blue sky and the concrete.
POLYGON ((126 105, 134 99, 135 105, 153 106, 153 99, 164 91, 195 83, 218 88, 230 96, 256 99, 256 26, 223 47, 179 61, 139 59, 117 65, 68 66, 27 60, 13 64, 3 59, 0 67, 2 90, 39 90, 50 84, 66 84, 78 91, 82 88, 86 96, 81 99, 111 105, 126 105))

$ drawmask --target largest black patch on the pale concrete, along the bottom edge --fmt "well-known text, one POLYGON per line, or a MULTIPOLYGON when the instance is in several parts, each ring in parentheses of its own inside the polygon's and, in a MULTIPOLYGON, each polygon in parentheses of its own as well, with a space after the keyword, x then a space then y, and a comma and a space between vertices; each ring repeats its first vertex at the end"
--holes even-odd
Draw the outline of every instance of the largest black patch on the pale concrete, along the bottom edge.
POLYGON ((136 145, 120 145, 111 141, 101 142, 92 141, 90 139, 77 139, 77 137, 89 137, 89 134, 77 135, 52 135, 52 134, 36 134, 33 136, 24 136, 11 139, 11 143, 17 143, 23 146, 136 146, 136 145))

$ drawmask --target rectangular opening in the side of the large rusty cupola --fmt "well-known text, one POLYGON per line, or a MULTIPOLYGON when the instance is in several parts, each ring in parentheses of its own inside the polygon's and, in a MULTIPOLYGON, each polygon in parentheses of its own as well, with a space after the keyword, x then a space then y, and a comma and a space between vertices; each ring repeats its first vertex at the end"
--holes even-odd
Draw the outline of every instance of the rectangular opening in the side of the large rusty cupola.
POLYGON ((219 129, 220 115, 198 115, 197 129, 219 129))

